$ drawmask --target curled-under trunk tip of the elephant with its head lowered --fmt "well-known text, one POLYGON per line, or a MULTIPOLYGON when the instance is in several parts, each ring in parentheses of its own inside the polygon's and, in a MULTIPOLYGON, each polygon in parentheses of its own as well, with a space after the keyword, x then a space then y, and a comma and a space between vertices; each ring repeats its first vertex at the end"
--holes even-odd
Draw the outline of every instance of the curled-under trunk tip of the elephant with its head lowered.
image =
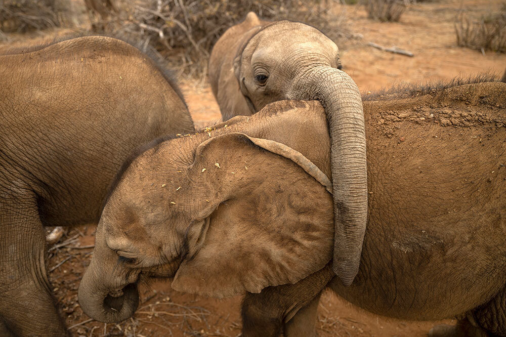
POLYGON ((118 266, 109 273, 92 260, 79 284, 79 305, 88 316, 104 323, 123 321, 137 310, 139 292, 136 283, 111 279, 118 266))

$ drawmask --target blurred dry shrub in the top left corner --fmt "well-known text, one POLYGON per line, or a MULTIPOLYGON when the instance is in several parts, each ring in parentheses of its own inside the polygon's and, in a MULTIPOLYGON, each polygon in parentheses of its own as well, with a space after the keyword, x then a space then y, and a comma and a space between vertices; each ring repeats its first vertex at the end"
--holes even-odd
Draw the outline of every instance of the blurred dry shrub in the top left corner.
POLYGON ((55 0, 0 0, 0 30, 24 32, 59 25, 55 0))

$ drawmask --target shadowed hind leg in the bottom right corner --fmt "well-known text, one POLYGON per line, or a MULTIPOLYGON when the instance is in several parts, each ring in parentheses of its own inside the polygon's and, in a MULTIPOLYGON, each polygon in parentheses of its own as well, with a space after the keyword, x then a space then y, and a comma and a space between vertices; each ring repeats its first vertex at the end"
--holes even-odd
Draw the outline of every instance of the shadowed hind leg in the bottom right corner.
POLYGON ((469 311, 457 325, 437 325, 431 329, 432 337, 486 337, 506 336, 506 286, 490 301, 469 311))

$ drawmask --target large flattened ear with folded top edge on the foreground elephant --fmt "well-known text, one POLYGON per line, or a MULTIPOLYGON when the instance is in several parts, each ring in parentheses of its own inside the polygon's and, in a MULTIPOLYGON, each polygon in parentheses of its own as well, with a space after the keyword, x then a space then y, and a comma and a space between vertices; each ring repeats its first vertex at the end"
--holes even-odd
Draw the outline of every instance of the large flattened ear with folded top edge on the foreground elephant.
POLYGON ((192 193, 205 200, 194 214, 208 227, 174 289, 218 298, 260 292, 296 283, 331 260, 330 182, 301 153, 230 133, 200 144, 188 171, 192 193))

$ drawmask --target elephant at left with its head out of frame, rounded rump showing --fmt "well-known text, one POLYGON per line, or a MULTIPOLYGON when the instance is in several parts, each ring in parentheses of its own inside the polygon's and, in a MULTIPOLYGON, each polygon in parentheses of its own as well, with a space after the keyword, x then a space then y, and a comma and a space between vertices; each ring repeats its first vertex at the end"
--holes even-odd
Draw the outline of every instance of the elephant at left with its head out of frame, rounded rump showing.
POLYGON ((168 77, 121 40, 0 54, 0 334, 61 336, 43 226, 97 222, 132 150, 193 122, 168 77))

